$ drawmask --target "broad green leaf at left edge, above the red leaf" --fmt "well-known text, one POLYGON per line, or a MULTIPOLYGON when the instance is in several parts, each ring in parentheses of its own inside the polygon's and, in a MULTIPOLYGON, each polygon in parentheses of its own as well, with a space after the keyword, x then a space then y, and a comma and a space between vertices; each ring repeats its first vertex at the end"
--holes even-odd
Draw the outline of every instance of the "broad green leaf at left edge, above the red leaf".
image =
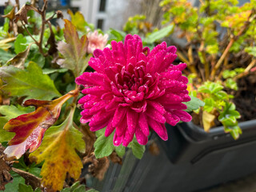
POLYGON ((50 100, 61 96, 54 86, 54 82, 34 62, 30 62, 27 70, 21 70, 14 66, 0 68, 0 77, 6 85, 2 90, 10 96, 27 96, 41 100, 50 100))

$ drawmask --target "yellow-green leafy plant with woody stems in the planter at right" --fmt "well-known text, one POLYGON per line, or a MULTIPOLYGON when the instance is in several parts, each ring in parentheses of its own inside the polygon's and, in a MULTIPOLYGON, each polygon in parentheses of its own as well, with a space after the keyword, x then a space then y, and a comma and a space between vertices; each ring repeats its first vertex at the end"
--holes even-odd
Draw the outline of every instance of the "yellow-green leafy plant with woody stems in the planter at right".
POLYGON ((186 0, 166 0, 160 6, 163 23, 174 25, 176 38, 186 43, 177 45, 177 54, 188 64, 190 94, 206 103, 194 111, 194 122, 206 131, 223 125, 237 139, 241 115, 242 121, 255 118, 254 81, 249 80, 256 63, 255 2, 200 1, 197 7, 186 0))

